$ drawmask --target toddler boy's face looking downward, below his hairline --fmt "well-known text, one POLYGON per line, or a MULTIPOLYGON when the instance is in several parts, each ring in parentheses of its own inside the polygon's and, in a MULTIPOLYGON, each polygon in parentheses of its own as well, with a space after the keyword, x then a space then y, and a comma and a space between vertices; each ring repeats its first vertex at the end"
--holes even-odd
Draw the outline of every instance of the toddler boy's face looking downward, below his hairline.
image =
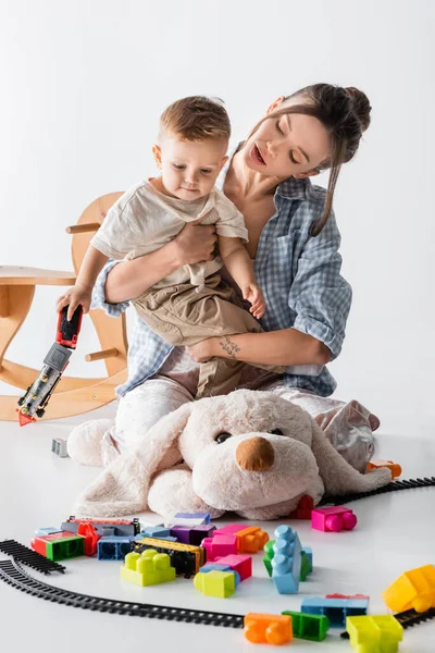
POLYGON ((227 147, 225 138, 191 141, 162 136, 160 146, 154 146, 154 157, 164 189, 185 200, 208 195, 227 160, 227 147))

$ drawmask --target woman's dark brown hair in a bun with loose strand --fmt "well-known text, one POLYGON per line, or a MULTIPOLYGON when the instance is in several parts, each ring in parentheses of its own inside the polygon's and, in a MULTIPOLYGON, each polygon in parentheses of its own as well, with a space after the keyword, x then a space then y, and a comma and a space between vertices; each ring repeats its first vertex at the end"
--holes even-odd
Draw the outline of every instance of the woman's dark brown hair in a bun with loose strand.
MULTIPOLYGON (((370 125, 372 108, 366 95, 352 86, 343 88, 332 84, 313 84, 286 97, 285 101, 290 99, 296 100, 297 103, 276 110, 273 115, 276 118, 287 113, 312 115, 326 127, 331 137, 331 156, 315 169, 319 172, 331 169, 323 214, 313 222, 310 230, 312 236, 318 236, 330 217, 341 164, 350 161, 357 152, 361 136, 370 125)), ((251 134, 268 118, 269 115, 260 121, 251 134)))

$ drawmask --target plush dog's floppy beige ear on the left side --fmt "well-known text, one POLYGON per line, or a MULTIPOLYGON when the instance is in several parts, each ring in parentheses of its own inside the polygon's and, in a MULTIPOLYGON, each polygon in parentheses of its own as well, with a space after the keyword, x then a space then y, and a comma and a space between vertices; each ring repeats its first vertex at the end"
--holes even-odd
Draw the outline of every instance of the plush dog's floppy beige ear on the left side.
POLYGON ((78 496, 74 506, 86 517, 117 517, 145 510, 152 476, 164 467, 179 463, 171 448, 189 419, 194 403, 184 404, 162 417, 132 449, 123 453, 78 496), (172 460, 170 460, 172 458, 172 460))

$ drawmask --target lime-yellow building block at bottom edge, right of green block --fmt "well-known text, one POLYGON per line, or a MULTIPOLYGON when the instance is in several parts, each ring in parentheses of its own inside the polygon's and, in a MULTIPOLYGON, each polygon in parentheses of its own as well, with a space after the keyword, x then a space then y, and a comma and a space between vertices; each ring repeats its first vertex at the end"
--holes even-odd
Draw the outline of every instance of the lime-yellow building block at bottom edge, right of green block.
POLYGON ((347 617, 350 645, 358 653, 397 653, 403 628, 393 615, 347 617))

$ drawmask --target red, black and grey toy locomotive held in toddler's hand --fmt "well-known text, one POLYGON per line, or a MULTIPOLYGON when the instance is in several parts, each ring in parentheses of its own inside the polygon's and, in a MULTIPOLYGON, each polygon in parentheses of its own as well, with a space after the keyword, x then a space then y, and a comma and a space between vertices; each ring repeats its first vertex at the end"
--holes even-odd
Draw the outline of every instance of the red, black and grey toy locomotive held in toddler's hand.
POLYGON ((34 383, 27 387, 25 395, 18 399, 18 421, 24 427, 36 421, 36 417, 44 417, 47 404, 55 386, 65 371, 70 357, 77 345, 77 337, 82 326, 83 309, 78 306, 69 321, 66 319, 67 306, 59 313, 55 342, 52 344, 44 367, 34 383), (36 417, 35 417, 36 416, 36 417))

